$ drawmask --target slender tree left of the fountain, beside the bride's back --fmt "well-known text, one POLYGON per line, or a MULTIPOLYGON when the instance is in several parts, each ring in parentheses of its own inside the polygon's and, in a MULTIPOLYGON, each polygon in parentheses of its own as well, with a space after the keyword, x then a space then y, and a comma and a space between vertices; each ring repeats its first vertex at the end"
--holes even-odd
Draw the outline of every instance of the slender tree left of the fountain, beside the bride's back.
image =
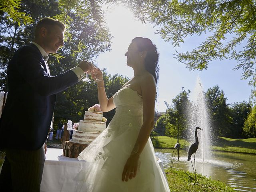
POLYGON ((187 92, 182 90, 173 100, 172 105, 169 106, 166 103, 168 108, 168 124, 166 124, 166 135, 172 137, 185 138, 186 130, 188 128, 188 108, 190 108, 190 101, 188 100, 188 95, 190 90, 187 92))

